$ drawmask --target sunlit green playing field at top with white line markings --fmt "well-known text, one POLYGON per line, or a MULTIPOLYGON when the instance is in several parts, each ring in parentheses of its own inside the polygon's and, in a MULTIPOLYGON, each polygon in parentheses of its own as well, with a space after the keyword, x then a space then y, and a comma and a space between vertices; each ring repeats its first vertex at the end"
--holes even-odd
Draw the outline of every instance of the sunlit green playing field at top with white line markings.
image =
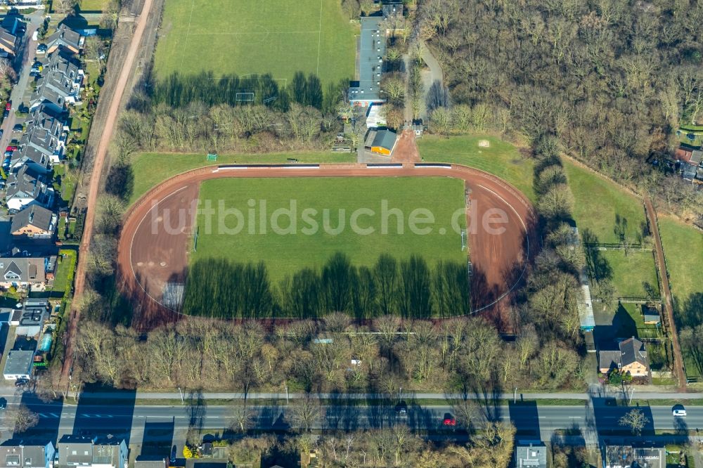
POLYGON ((302 71, 323 85, 354 77, 357 27, 339 0, 166 0, 155 56, 158 77, 302 71))

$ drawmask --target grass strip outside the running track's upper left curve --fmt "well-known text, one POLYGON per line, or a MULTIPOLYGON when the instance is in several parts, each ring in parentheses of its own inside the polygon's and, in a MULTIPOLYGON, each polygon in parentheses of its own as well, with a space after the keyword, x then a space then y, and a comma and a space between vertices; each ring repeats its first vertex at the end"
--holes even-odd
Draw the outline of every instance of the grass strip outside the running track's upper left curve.
POLYGON ((319 152, 280 152, 266 155, 218 155, 217 162, 207 162, 203 154, 154 153, 145 152, 132 158, 134 171, 134 191, 129 204, 144 195, 147 190, 167 178, 181 172, 216 164, 266 164, 271 162, 288 162, 294 157, 298 162, 356 162, 356 153, 319 152))

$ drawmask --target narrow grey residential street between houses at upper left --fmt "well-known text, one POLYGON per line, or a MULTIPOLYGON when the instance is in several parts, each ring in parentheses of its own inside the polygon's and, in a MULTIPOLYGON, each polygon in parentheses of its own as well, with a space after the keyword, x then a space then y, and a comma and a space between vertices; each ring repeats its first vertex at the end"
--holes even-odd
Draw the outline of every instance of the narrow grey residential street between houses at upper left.
MULTIPOLYGON (((29 65, 34 63, 34 54, 37 51, 38 44, 37 42, 32 41, 32 34, 39 28, 41 22, 44 20, 44 10, 35 11, 31 15, 24 16, 23 19, 27 22, 27 31, 25 32, 24 37, 22 37, 22 44, 20 46, 21 57, 18 60, 15 60, 15 64, 19 61, 18 82, 15 86, 13 86, 10 93, 12 110, 10 111, 10 115, 8 115, 5 122, 2 124, 4 134, 3 137, 0 138, 1 148, 6 148, 13 138, 18 140, 20 139, 20 134, 13 134, 12 127, 17 123, 22 123, 25 121, 24 118, 18 118, 15 116, 15 111, 18 109, 20 103, 22 103, 22 100, 25 100, 25 105, 29 106, 30 104, 28 97, 31 93, 27 93, 27 91, 31 91, 31 89, 28 89, 30 84, 31 68, 29 65), (27 96, 25 96, 25 94, 27 96)), ((15 70, 16 69, 17 68, 15 68, 15 70)))

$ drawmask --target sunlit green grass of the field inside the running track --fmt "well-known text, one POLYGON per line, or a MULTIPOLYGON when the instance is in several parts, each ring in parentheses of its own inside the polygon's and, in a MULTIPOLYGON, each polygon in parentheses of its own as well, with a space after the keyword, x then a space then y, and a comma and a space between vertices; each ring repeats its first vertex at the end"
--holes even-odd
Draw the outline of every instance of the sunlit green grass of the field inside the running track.
MULTIPOLYGON (((285 275, 295 273, 303 267, 319 268, 335 252, 347 254, 356 265, 372 266, 380 254, 390 254, 396 259, 406 259, 411 254, 423 256, 430 266, 438 260, 464 263, 466 252, 461 251, 460 234, 451 228, 452 214, 464 209, 464 186, 462 181, 451 178, 228 178, 205 181, 200 186, 201 203, 213 200, 217 207, 224 200, 226 208, 236 207, 245 214, 244 228, 238 234, 218 233, 217 217, 212 221, 212 233, 207 233, 206 215, 198 215, 198 251, 191 254, 191 263, 198 259, 221 258, 238 262, 264 261, 269 266, 273 284, 278 284, 285 275), (265 195, 264 195, 265 194, 265 195), (294 195, 295 194, 295 195, 294 195), (264 199, 265 197, 265 199, 264 199), (297 234, 273 233, 271 214, 278 208, 288 208, 292 198, 297 203, 297 234), (261 200, 266 200, 266 235, 262 235, 258 223, 248 223, 250 209, 247 200, 256 199, 256 219, 262 214, 261 200), (387 200, 387 209, 399 208, 404 218, 401 231, 396 226, 396 217, 389 216, 383 233, 382 200, 387 200), (319 228, 306 234, 308 221, 302 216, 304 209, 316 209, 313 214, 319 228), (374 228, 375 232, 363 235, 350 227, 352 212, 356 209, 371 209, 375 214, 363 214, 359 218, 360 228, 374 228), (414 209, 426 208, 434 215, 435 222, 425 224, 432 232, 425 235, 411 233, 409 217, 414 209), (323 210, 328 209, 327 227, 323 228, 323 210), (332 234, 329 228, 340 223, 340 212, 345 228, 332 234), (250 229, 253 228, 254 233, 250 229), (444 229, 444 235, 441 234, 444 229)), ((203 205, 201 204, 201 207, 203 205)), ((234 216, 226 220, 227 226, 236 226, 234 216)), ((465 226, 465 218, 460 221, 465 226)), ((278 221, 278 226, 289 226, 287 216, 278 221)))

